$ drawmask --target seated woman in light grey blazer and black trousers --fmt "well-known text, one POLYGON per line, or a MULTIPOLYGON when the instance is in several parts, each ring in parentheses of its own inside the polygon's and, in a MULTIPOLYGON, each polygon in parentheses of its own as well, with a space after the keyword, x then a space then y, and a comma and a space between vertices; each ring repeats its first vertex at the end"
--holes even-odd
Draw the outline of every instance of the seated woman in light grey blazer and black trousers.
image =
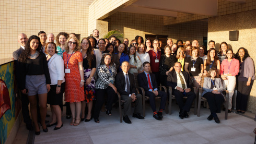
POLYGON ((211 114, 208 116, 208 120, 211 121, 214 118, 216 123, 220 123, 216 113, 220 113, 220 107, 224 102, 224 95, 222 94, 223 85, 222 79, 218 78, 217 69, 211 68, 207 77, 204 78, 204 86, 202 97, 207 99, 210 106, 211 114))

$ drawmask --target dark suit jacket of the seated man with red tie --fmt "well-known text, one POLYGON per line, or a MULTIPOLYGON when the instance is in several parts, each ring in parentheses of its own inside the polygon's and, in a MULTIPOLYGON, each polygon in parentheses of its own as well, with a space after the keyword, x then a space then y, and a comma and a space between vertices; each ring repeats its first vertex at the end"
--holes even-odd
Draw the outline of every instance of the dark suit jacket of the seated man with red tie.
MULTIPOLYGON (((156 76, 155 74, 149 73, 149 76, 152 81, 153 90, 157 88, 156 76)), ((148 80, 145 72, 138 74, 138 85, 142 87, 144 90, 149 90, 148 88, 148 80)))

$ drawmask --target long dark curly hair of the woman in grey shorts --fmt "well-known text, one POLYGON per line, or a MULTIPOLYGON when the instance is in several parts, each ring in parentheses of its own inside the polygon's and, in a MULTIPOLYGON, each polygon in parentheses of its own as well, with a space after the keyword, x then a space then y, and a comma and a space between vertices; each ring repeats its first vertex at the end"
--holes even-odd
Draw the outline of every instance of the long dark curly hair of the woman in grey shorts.
POLYGON ((40 42, 40 38, 39 38, 37 35, 31 35, 31 36, 29 37, 29 39, 28 39, 26 45, 25 45, 25 50, 22 51, 21 54, 20 54, 20 56, 19 56, 19 59, 18 59, 19 62, 26 63, 27 58, 28 58, 28 56, 30 55, 30 49, 31 49, 31 47, 30 47, 30 42, 31 42, 33 39, 38 40, 37 51, 39 52, 39 56, 41 55, 41 53, 42 53, 42 49, 41 49, 42 44, 41 44, 41 42, 40 42))

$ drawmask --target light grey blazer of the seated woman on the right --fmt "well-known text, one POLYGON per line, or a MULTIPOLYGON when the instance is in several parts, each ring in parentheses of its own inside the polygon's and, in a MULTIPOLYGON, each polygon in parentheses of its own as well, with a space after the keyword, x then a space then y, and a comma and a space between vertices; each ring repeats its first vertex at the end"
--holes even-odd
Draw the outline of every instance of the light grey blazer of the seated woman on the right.
MULTIPOLYGON (((206 92, 212 92, 213 89, 211 89, 212 86, 212 81, 211 78, 209 77, 205 77, 204 78, 204 87, 203 87, 203 93, 202 93, 202 97, 206 92)), ((218 90, 218 92, 220 92, 223 95, 223 85, 222 85, 222 79, 220 78, 215 78, 215 87, 218 90)))

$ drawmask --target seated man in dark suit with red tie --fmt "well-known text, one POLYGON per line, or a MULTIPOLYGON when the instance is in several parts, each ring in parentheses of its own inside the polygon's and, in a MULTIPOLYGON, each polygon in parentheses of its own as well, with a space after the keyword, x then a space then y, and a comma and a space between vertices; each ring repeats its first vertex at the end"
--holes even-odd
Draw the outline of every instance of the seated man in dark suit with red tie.
POLYGON ((144 73, 138 74, 138 85, 145 90, 145 95, 149 97, 149 102, 154 113, 153 117, 157 120, 161 120, 162 111, 165 110, 167 93, 157 89, 158 86, 156 82, 156 76, 152 73, 149 73, 150 63, 144 62, 143 67, 144 73), (159 112, 156 111, 156 96, 161 97, 159 112))

